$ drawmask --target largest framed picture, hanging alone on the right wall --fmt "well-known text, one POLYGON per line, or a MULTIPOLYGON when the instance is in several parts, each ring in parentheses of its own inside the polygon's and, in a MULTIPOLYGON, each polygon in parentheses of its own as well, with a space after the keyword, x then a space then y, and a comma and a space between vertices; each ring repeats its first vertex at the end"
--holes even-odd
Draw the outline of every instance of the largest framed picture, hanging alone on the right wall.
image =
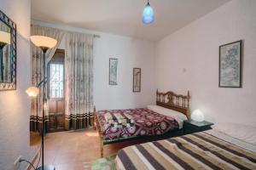
POLYGON ((241 88, 242 41, 219 46, 219 88, 241 88))

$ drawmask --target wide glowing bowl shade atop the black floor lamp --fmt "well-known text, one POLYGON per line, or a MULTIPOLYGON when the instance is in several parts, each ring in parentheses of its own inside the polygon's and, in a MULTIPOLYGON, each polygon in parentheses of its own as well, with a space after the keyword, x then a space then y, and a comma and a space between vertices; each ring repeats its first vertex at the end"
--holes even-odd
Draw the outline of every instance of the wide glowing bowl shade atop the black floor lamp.
POLYGON ((57 40, 52 37, 32 36, 30 39, 39 48, 54 48, 57 43, 57 40))

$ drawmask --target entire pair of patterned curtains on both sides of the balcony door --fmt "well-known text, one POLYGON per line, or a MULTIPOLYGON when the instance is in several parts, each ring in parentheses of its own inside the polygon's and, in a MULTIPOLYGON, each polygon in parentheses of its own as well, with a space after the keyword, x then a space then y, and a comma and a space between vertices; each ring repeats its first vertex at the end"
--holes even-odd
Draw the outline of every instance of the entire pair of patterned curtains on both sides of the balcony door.
MULTIPOLYGON (((93 35, 61 31, 44 26, 32 26, 32 35, 53 37, 58 42, 46 53, 47 63, 52 59, 62 40, 65 43, 65 129, 79 129, 93 125, 93 35)), ((32 85, 43 79, 43 52, 32 44, 32 85)), ((32 99, 31 131, 40 132, 43 116, 43 88, 32 99)), ((45 127, 49 122, 45 105, 45 127)))

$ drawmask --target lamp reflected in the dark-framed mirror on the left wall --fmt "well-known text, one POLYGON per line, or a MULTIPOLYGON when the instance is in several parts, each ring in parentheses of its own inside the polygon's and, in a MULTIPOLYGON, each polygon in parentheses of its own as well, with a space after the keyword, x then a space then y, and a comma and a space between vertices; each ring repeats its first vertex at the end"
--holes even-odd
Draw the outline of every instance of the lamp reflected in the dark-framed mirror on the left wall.
POLYGON ((0 31, 0 73, 3 81, 3 48, 6 44, 10 44, 10 34, 6 31, 0 31))

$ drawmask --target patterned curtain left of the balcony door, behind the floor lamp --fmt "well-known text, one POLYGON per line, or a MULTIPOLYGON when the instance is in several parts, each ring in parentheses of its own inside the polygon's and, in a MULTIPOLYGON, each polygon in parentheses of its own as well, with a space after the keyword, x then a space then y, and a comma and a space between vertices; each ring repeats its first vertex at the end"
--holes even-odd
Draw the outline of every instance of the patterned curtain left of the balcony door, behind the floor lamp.
MULTIPOLYGON (((46 53, 46 62, 48 63, 49 60, 55 54, 56 48, 60 46, 61 40, 64 36, 64 32, 54 29, 48 28, 44 26, 33 26, 31 27, 32 36, 47 36, 53 37, 58 42, 55 48, 51 48, 46 53)), ((39 82, 43 79, 43 52, 40 48, 37 48, 32 44, 32 85, 37 86, 39 82)), ((40 92, 36 99, 32 99, 31 105, 31 116, 30 116, 30 130, 34 132, 40 132, 43 120, 43 107, 46 109, 45 113, 45 127, 47 129, 47 122, 49 120, 48 117, 48 105, 43 105, 43 87, 40 87, 40 92)))

